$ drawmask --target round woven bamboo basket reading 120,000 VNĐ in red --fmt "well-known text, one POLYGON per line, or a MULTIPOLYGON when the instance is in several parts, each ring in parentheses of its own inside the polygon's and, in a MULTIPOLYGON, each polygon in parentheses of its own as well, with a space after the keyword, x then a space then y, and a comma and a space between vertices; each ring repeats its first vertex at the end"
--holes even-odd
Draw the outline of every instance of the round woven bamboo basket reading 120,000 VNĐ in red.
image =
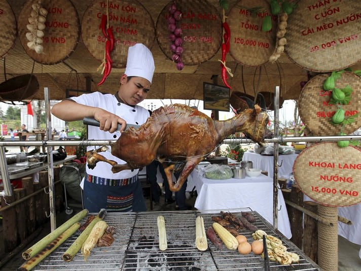
POLYGON ((271 15, 271 11, 266 0, 241 0, 229 12, 229 52, 242 65, 260 66, 275 50, 278 18, 272 16, 271 31, 263 32, 262 21, 267 15, 271 15))

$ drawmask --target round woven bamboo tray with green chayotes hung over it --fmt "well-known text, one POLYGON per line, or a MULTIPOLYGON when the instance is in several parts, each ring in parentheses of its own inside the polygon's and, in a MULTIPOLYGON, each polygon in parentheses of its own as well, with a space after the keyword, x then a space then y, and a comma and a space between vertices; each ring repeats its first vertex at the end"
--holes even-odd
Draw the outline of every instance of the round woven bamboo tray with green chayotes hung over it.
POLYGON ((344 72, 335 82, 336 88, 342 89, 349 85, 353 90, 350 104, 342 106, 346 110, 346 118, 358 113, 353 122, 342 127, 342 124, 331 123, 338 107, 329 104, 332 91, 323 90, 323 83, 330 75, 320 74, 310 79, 298 100, 300 118, 314 136, 338 136, 341 130, 350 134, 361 126, 361 114, 358 112, 361 108, 361 78, 354 73, 344 72))

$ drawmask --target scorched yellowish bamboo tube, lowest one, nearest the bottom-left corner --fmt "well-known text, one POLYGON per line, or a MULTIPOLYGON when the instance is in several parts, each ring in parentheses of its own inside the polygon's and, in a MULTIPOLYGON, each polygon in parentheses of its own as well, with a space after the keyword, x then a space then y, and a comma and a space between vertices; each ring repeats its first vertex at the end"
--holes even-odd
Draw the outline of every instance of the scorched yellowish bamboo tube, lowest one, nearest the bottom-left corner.
POLYGON ((80 223, 76 222, 67 228, 63 233, 61 233, 55 240, 53 240, 50 244, 48 244, 42 253, 37 254, 32 257, 27 262, 23 263, 18 270, 25 271, 31 270, 34 268, 39 262, 41 262, 45 257, 47 257, 50 253, 52 253, 55 249, 57 249, 66 239, 68 239, 71 235, 74 234, 80 228, 80 223))

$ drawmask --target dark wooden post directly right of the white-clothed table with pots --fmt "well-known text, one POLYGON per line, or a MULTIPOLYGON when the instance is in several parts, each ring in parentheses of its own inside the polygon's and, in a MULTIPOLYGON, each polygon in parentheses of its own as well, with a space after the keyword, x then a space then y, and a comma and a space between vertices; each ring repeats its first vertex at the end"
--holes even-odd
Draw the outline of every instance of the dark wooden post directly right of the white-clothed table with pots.
MULTIPOLYGON (((303 193, 297 185, 293 185, 291 192, 284 192, 283 197, 298 206, 303 206, 303 193)), ((292 238, 291 241, 302 249, 303 213, 291 206, 287 206, 288 218, 290 219, 292 238)))

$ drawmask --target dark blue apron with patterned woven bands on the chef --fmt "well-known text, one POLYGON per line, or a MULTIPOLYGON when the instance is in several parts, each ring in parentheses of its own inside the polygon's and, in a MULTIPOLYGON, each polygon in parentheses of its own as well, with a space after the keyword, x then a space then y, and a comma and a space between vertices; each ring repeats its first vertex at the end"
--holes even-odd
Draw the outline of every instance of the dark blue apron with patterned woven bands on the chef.
POLYGON ((138 175, 128 179, 112 180, 85 175, 84 208, 97 213, 104 208, 108 212, 145 212, 146 202, 138 175))

